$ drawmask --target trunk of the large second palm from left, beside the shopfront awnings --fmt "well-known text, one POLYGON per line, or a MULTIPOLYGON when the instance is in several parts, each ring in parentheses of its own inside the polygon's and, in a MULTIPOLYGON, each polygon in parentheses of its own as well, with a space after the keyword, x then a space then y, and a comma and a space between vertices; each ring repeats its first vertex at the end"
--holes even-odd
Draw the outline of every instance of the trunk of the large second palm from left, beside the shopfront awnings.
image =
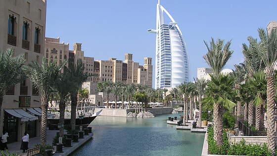
POLYGON ((48 100, 45 96, 42 96, 42 127, 41 127, 41 142, 42 145, 46 145, 46 138, 47 138, 47 107, 48 107, 48 100))

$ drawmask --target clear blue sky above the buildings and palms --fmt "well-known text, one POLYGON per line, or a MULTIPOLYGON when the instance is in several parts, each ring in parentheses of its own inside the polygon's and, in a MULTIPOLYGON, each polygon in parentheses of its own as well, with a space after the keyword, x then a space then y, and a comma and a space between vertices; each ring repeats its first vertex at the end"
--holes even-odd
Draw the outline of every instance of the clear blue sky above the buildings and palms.
MULTIPOLYGON (((60 37, 70 49, 72 43, 82 43, 85 55, 95 59, 123 60, 130 52, 142 64, 143 57, 155 55, 155 35, 146 30, 155 29, 157 1, 47 0, 46 37, 60 37)), ((234 53, 226 68, 233 68, 243 60, 241 44, 247 36, 257 38, 258 28, 277 20, 277 0, 161 0, 161 4, 185 38, 190 80, 198 67, 208 67, 203 40, 232 40, 234 53)))

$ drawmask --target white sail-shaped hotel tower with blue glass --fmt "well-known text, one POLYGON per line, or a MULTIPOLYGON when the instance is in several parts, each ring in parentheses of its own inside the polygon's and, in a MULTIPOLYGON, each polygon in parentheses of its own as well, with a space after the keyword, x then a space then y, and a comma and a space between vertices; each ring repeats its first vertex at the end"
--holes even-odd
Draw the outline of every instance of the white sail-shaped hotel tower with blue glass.
POLYGON ((182 32, 160 0, 157 4, 156 29, 147 32, 156 34, 155 88, 177 87, 188 82, 188 56, 182 32), (169 24, 164 24, 164 13, 171 20, 169 24))

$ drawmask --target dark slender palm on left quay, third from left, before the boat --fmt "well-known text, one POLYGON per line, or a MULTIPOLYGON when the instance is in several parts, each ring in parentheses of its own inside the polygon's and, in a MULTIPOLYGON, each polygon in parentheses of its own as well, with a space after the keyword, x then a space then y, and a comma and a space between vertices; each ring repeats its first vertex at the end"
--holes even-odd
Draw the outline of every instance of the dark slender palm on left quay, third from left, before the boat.
MULTIPOLYGON (((54 82, 54 89, 60 97, 59 110, 60 110, 60 121, 61 125, 64 125, 64 112, 65 103, 69 97, 71 91, 71 79, 67 68, 64 68, 63 73, 58 75, 58 78, 54 82)), ((60 127, 60 136, 63 137, 63 126, 60 127)))

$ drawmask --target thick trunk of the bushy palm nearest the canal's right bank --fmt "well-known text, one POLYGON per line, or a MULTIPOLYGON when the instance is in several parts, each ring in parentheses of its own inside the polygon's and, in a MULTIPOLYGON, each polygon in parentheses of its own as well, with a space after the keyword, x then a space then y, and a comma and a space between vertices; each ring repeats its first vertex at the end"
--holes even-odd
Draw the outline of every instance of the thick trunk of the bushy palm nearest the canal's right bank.
POLYGON ((223 121, 222 121, 222 112, 220 105, 218 103, 214 104, 214 139, 217 143, 217 146, 223 145, 223 121))

